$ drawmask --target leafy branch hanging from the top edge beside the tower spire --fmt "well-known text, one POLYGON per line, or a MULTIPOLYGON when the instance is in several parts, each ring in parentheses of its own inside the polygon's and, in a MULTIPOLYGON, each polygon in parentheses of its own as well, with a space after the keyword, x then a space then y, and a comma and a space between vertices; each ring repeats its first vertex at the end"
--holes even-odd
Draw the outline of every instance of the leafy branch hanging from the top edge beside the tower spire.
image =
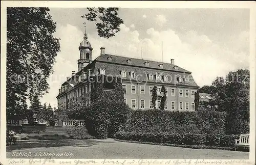
POLYGON ((100 37, 110 38, 120 31, 120 24, 123 20, 118 16, 119 8, 87 8, 89 13, 82 15, 89 21, 96 23, 98 35, 100 37))

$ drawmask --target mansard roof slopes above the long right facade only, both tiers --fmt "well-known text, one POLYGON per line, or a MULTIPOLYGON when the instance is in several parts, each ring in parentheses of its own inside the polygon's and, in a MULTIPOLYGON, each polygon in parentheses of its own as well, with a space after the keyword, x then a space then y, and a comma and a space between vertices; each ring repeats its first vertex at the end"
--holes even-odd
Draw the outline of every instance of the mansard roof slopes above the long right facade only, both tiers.
MULTIPOLYGON (((99 58, 96 59, 96 63, 95 63, 95 70, 94 70, 94 74, 97 75, 99 74, 99 69, 105 69, 105 75, 112 75, 112 76, 119 76, 121 74, 121 71, 125 71, 126 72, 126 77, 122 77, 123 80, 127 79, 130 81, 130 74, 131 72, 135 72, 136 74, 136 80, 137 81, 144 81, 144 82, 156 82, 156 74, 160 74, 162 76, 162 80, 163 80, 163 76, 167 76, 168 77, 168 81, 166 82, 167 84, 170 85, 180 85, 180 86, 190 86, 190 87, 195 87, 198 88, 199 86, 196 84, 193 76, 191 76, 191 72, 181 72, 182 68, 180 68, 179 72, 177 72, 177 70, 175 69, 170 69, 167 70, 166 68, 160 68, 158 65, 159 64, 163 64, 165 66, 172 66, 172 64, 167 64, 167 63, 159 63, 159 62, 152 62, 152 61, 148 61, 149 63, 154 64, 153 66, 155 67, 146 67, 144 66, 144 62, 145 60, 141 60, 141 59, 131 59, 132 63, 135 61, 135 64, 133 65, 129 65, 127 64, 126 60, 128 60, 129 58, 123 58, 123 57, 119 57, 119 56, 112 56, 112 61, 108 61, 107 58, 109 57, 109 54, 106 55, 101 55, 99 58), (121 61, 119 63, 119 60, 121 61), (140 65, 139 62, 143 65, 140 65), (137 65, 138 66, 137 66, 137 65), (157 65, 157 67, 156 67, 157 65), (154 80, 149 80, 148 79, 148 74, 153 74, 154 75, 154 80), (177 78, 181 76, 182 78, 189 78, 188 83, 179 83, 177 81, 177 78)), ((183 70, 184 71, 184 70, 183 70)), ((164 82, 165 83, 165 82, 164 82)))

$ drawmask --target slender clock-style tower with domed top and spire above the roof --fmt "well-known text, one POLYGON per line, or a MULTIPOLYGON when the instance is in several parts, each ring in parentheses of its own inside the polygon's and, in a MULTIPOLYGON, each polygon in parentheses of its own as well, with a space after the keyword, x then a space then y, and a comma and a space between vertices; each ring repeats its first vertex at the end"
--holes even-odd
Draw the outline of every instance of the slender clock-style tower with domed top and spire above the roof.
POLYGON ((80 42, 79 51, 80 51, 80 59, 77 61, 78 65, 78 72, 81 70, 81 68, 86 67, 90 60, 92 60, 92 50, 91 43, 87 40, 87 34, 86 34, 86 23, 84 24, 84 36, 83 41, 80 42))

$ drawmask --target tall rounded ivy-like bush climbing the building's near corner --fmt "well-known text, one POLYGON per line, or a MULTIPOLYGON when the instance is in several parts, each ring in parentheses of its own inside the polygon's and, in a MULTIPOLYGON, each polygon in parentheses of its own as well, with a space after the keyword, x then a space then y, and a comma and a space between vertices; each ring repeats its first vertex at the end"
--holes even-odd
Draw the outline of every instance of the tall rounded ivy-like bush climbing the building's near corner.
POLYGON ((123 102, 124 91, 120 77, 114 81, 106 81, 106 76, 98 75, 96 79, 97 82, 92 85, 91 103, 83 111, 84 120, 90 134, 97 139, 106 139, 113 137, 123 127, 131 108, 123 102), (114 91, 106 91, 104 88, 114 91))

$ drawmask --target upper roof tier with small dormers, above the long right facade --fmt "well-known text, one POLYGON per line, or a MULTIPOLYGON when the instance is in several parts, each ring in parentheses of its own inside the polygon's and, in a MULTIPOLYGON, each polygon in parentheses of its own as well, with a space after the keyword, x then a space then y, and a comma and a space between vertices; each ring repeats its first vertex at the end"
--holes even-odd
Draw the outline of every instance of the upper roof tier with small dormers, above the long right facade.
POLYGON ((173 70, 175 72, 191 73, 177 65, 170 64, 170 63, 162 63, 162 62, 150 61, 150 60, 145 60, 145 59, 134 59, 134 58, 121 57, 121 56, 114 56, 112 54, 102 54, 95 60, 101 61, 101 62, 108 62, 108 63, 131 65, 131 66, 136 66, 136 67, 146 67, 146 68, 154 68, 154 69, 162 69, 162 70, 173 70), (112 61, 109 61, 107 59, 109 56, 112 57, 112 61), (132 60, 131 64, 127 63, 127 60, 129 60, 129 59, 132 60), (144 64, 145 62, 148 62, 148 66, 145 66, 145 64, 144 64), (163 68, 160 68, 159 64, 163 64, 163 68), (177 66, 177 69, 174 69, 175 66, 177 66))

